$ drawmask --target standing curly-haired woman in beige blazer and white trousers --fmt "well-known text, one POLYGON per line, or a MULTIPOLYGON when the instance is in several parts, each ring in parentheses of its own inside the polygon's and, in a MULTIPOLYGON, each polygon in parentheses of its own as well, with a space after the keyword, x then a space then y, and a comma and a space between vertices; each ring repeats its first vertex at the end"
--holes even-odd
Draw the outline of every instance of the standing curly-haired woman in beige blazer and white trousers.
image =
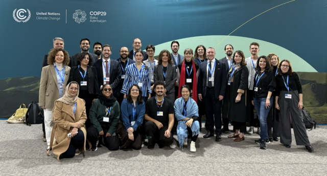
POLYGON ((52 109, 54 102, 62 97, 69 79, 71 68, 68 67, 69 55, 60 47, 51 49, 48 56, 48 66, 42 68, 39 105, 44 109, 45 137, 49 150, 50 137, 53 127, 52 109))

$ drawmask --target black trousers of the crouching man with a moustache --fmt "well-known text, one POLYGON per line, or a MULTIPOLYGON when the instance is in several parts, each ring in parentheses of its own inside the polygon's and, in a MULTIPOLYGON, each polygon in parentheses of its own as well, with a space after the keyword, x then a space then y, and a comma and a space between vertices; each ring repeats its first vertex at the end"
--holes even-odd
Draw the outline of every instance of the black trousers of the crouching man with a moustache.
POLYGON ((174 133, 172 133, 172 131, 169 138, 165 137, 165 131, 168 129, 168 125, 164 125, 159 129, 155 123, 147 121, 144 125, 144 129, 148 137, 148 148, 153 148, 155 143, 158 143, 159 147, 163 147, 173 142, 174 133))

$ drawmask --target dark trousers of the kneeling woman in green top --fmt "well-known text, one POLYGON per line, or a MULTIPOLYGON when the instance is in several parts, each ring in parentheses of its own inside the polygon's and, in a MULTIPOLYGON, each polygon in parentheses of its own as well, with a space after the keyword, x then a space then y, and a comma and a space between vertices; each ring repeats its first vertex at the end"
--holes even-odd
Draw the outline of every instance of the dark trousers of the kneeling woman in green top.
MULTIPOLYGON (((119 149, 119 138, 118 135, 115 136, 108 136, 106 137, 107 131, 110 127, 109 124, 105 124, 105 123, 100 123, 101 127, 103 129, 103 142, 104 145, 109 149, 109 150, 118 150, 119 149)), ((93 125, 89 126, 87 128, 87 139, 90 141, 92 146, 97 145, 97 140, 98 140, 98 136, 99 136, 99 132, 98 129, 96 127, 94 127, 93 125)), ((113 134, 110 134, 113 135, 113 134)))

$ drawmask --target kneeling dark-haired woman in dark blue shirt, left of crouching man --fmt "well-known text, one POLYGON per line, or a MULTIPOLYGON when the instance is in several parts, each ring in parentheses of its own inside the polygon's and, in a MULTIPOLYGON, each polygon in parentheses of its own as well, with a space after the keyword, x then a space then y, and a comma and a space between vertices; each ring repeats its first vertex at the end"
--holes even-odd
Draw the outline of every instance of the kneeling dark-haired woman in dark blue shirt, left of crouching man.
POLYGON ((127 98, 121 106, 122 118, 117 126, 117 134, 121 135, 121 149, 127 151, 129 147, 139 150, 142 147, 141 125, 145 113, 145 103, 142 90, 133 84, 128 90, 127 98))

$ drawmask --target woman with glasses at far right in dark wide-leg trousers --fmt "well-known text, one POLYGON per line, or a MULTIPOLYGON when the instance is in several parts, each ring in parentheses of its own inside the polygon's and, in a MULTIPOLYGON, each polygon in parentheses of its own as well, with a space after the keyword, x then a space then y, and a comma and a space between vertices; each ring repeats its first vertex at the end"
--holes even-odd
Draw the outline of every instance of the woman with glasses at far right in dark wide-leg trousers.
POLYGON ((303 94, 301 81, 297 73, 293 72, 289 60, 282 60, 278 68, 275 107, 281 112, 279 118, 281 143, 286 148, 291 148, 291 115, 296 145, 304 145, 309 152, 313 152, 314 149, 310 145, 306 126, 302 121, 303 94))

